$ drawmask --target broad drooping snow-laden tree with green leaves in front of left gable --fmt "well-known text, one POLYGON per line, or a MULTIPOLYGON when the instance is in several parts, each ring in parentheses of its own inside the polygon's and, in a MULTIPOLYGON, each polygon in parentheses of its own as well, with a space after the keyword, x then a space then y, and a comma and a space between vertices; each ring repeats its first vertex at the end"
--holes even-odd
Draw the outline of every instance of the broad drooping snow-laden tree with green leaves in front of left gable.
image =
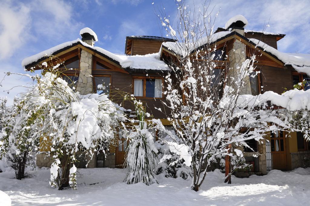
POLYGON ((13 110, 4 119, 0 152, 24 158, 48 151, 54 159, 51 186, 76 189, 76 153, 83 151, 92 157, 94 151, 105 150, 126 115, 107 94, 76 92, 62 79, 65 74, 58 70, 60 64, 44 62, 41 75, 20 74, 34 84, 15 98, 13 110))

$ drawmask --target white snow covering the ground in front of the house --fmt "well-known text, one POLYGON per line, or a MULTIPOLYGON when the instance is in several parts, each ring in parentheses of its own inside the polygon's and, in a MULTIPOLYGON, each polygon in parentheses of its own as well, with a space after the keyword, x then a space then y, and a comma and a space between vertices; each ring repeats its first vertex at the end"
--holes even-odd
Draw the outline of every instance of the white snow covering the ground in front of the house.
MULTIPOLYGON (((310 168, 290 172, 272 170, 265 176, 232 177, 223 183, 219 170, 209 172, 199 192, 191 181, 159 177, 160 184, 126 185, 122 169, 80 169, 78 190, 59 191, 48 185, 48 168, 31 171, 32 177, 13 179, 14 172, 0 173, 0 190, 12 205, 308 205, 310 168)), ((1 201, 1 200, 0 200, 1 201)), ((0 204, 1 205, 1 204, 0 204)))

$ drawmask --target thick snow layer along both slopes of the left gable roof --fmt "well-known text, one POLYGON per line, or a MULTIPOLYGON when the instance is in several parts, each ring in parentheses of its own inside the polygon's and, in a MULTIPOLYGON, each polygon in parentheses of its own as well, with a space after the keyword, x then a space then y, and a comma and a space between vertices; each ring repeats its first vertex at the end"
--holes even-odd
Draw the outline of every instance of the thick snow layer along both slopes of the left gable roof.
POLYGON ((76 39, 74 41, 65 42, 50 49, 47 49, 43 52, 29 56, 22 61, 22 66, 26 67, 30 64, 33 64, 40 59, 44 58, 46 55, 52 55, 55 52, 64 49, 65 47, 72 46, 73 44, 80 43, 85 47, 88 47, 95 52, 103 54, 112 60, 119 63, 122 68, 130 69, 150 69, 150 70, 170 70, 168 65, 162 60, 160 60, 160 53, 147 54, 147 55, 135 55, 135 56, 126 56, 121 54, 113 54, 100 47, 92 47, 89 44, 84 43, 81 39, 76 39))

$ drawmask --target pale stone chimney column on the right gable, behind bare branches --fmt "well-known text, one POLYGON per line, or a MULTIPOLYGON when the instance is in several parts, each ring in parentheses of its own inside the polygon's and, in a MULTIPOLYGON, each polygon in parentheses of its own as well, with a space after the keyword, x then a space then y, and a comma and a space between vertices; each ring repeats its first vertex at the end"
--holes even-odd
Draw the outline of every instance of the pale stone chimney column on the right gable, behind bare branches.
MULTIPOLYGON (((236 91, 240 86, 240 78, 245 73, 245 70, 243 69, 246 69, 242 68, 242 63, 246 60, 246 45, 236 39, 233 43, 232 49, 228 52, 228 58, 230 69, 228 72, 227 85, 233 87, 236 91), (236 83, 236 81, 238 81, 238 83, 236 83)), ((240 95, 243 94, 252 94, 250 78, 248 75, 244 77, 244 87, 241 88, 240 95)))

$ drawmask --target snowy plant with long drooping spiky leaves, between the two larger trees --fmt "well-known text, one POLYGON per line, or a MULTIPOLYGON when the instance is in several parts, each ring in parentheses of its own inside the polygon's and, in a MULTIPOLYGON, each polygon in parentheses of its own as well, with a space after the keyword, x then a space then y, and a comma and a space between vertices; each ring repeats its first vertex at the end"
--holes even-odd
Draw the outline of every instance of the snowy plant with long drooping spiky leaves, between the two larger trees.
POLYGON ((157 166, 157 148, 153 142, 153 136, 148 131, 145 116, 145 107, 141 101, 134 101, 136 113, 136 125, 129 134, 129 145, 126 150, 125 165, 128 172, 124 181, 127 184, 143 182, 146 185, 157 183, 156 171, 157 166))

